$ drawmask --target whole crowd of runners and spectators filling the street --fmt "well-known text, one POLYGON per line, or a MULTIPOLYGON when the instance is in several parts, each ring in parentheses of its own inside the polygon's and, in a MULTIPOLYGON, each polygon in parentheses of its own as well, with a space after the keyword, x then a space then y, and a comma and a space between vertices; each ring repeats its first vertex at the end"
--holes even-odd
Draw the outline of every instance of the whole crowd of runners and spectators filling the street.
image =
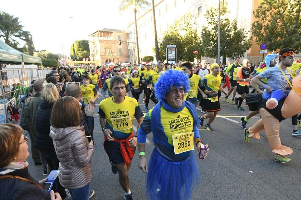
POLYGON ((128 172, 136 147, 139 168, 147 173, 149 199, 191 199, 193 189, 201 181, 193 146, 196 145, 202 159, 209 153, 198 126, 214 130, 220 101, 232 103, 235 111, 240 112, 244 111, 245 100, 250 112, 240 118, 244 128, 242 139, 246 142, 250 138, 259 139, 259 133, 265 130, 275 161, 287 163, 290 158, 286 155, 293 150, 281 144, 279 122, 291 118, 292 135, 301 135, 297 129, 301 120, 301 115, 298 116, 301 85, 297 82, 301 79, 298 76, 301 64, 295 61, 294 54, 294 49, 284 48, 277 54, 267 55, 257 66, 248 59, 241 61, 236 57, 226 65, 202 60, 197 64, 178 61, 172 65, 158 61, 127 66, 53 68, 45 81, 33 81, 28 94, 21 98, 23 129, 0 124, 0 185, 11 188, 1 190, 0 196, 89 199, 94 195, 90 190, 91 160, 94 124, 98 122, 93 115, 100 95, 104 98, 98 111, 104 150, 112 172, 119 175, 125 200, 134 199, 128 172), (138 100, 142 93, 144 107, 141 109, 138 100), (225 97, 220 99, 222 93, 225 97), (150 100, 155 104, 153 108, 149 107, 150 100), (196 110, 199 106, 200 116, 196 110), (249 119, 257 114, 260 120, 247 128, 249 119), (138 124, 136 133, 134 118, 138 124), (28 173, 28 138, 23 136, 23 130, 29 132, 32 158, 35 165, 43 166, 43 175, 61 170, 51 193, 43 189, 45 180, 37 182, 28 173), (144 149, 149 133, 155 148, 147 162, 144 149))

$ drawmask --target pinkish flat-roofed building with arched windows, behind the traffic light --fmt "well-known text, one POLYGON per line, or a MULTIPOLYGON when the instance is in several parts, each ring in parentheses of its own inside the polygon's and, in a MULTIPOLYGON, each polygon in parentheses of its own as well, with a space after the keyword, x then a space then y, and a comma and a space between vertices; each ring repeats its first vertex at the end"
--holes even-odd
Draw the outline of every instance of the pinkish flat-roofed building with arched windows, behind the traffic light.
POLYGON ((129 62, 127 39, 124 30, 104 28, 89 35, 90 59, 106 62, 129 62))

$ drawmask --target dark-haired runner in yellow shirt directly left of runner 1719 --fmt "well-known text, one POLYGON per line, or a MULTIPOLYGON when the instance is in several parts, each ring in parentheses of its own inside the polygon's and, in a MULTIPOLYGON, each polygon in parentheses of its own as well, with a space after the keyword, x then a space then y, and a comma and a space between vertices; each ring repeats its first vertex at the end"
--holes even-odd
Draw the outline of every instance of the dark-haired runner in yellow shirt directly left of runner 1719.
POLYGON ((93 101, 95 103, 96 99, 99 97, 100 93, 97 91, 95 85, 90 84, 90 79, 88 74, 82 75, 82 97, 84 98, 84 103, 89 103, 93 101), (94 96, 96 94, 96 96, 94 96))

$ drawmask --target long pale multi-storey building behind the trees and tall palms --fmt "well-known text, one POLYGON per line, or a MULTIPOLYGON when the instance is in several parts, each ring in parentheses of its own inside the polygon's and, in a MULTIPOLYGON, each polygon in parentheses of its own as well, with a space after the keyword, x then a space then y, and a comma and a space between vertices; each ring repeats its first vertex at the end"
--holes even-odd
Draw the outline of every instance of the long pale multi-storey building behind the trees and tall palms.
MULTIPOLYGON (((253 10, 258 7, 259 0, 220 0, 220 2, 227 5, 229 10, 227 17, 231 21, 236 19, 238 28, 249 32, 255 20, 253 10)), ((201 35, 202 27, 208 25, 205 18, 206 11, 211 7, 218 6, 219 0, 155 0, 158 40, 163 37, 164 31, 167 31, 169 26, 174 24, 175 20, 180 19, 186 13, 191 13, 197 17, 197 32, 201 35)), ((152 9, 140 14, 137 18, 138 41, 142 54, 140 57, 144 57, 145 55, 155 57, 153 50, 155 44, 152 9)), ((135 22, 129 24, 127 30, 129 31, 129 38, 136 41, 135 22)), ((250 33, 247 36, 250 37, 250 33)), ((259 45, 253 39, 252 47, 245 53, 244 57, 249 58, 250 62, 252 62, 253 57, 257 60, 260 56, 262 55, 259 54, 259 45)), ((210 63, 214 61, 209 58, 205 59, 208 59, 210 63)))

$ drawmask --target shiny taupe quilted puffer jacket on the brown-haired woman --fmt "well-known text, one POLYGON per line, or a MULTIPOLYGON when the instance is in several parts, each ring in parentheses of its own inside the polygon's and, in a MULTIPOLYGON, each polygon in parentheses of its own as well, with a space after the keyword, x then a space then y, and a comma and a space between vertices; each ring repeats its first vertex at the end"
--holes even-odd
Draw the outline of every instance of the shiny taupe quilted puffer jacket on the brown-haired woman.
POLYGON ((92 180, 91 160, 94 153, 88 145, 82 127, 50 127, 50 137, 60 161, 59 181, 64 188, 75 190, 88 185, 92 180))

